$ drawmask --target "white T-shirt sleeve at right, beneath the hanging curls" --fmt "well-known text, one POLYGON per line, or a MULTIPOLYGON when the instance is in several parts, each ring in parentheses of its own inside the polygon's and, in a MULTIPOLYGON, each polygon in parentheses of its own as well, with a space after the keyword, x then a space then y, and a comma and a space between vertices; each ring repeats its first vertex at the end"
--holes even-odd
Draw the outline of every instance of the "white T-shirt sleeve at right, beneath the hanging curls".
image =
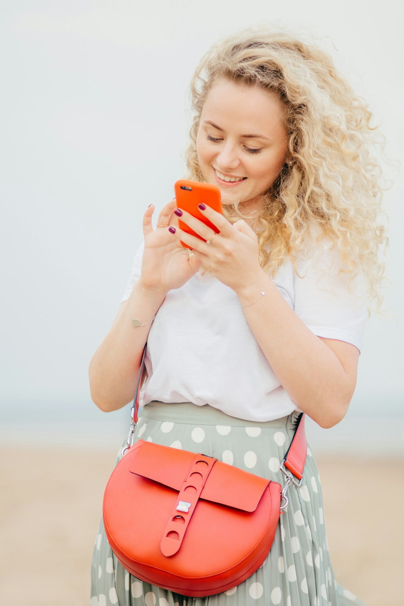
POLYGON ((325 240, 309 247, 305 258, 297 256, 301 278, 294 272, 294 310, 315 335, 346 341, 360 352, 368 317, 363 271, 359 267, 356 276, 351 271, 337 276, 342 267, 340 251, 337 244, 331 246, 325 240))

